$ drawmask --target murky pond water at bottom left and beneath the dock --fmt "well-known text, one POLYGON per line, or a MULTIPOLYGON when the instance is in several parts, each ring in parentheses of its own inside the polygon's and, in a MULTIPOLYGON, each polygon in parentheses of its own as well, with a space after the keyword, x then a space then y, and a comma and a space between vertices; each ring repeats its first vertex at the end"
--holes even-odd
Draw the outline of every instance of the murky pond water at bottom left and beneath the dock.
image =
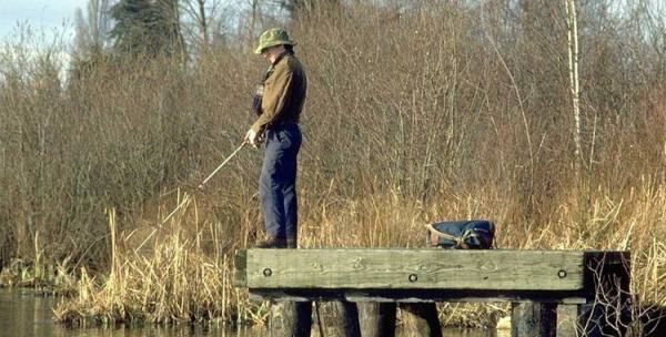
MULTIPOLYGON (((132 327, 132 328, 67 328, 53 323, 52 308, 58 299, 36 296, 31 290, 0 288, 0 337, 260 337, 266 336, 265 329, 249 328, 242 330, 229 327, 132 327)), ((313 328, 313 337, 317 336, 313 328)), ((398 336, 407 336, 401 334, 398 336)), ((503 337, 508 334, 491 330, 445 329, 446 337, 503 337)))

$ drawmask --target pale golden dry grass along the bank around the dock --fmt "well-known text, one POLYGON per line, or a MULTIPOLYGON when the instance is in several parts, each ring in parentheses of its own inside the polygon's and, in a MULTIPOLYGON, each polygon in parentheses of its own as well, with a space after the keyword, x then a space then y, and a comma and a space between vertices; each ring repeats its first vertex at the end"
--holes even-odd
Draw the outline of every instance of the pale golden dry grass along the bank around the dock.
MULTIPOLYGON (((595 241, 583 237, 579 231, 565 222, 566 218, 561 218, 544 224, 538 235, 523 237, 512 235, 524 233, 522 226, 503 224, 500 226, 498 245, 526 249, 630 249, 632 290, 642 305, 635 307, 634 315, 639 318, 649 306, 666 305, 663 233, 645 232, 646 227, 637 225, 652 216, 664 215, 665 193, 666 188, 662 187, 649 200, 644 198, 645 194, 628 200, 623 212, 617 212, 609 200, 595 202, 592 207, 596 210, 594 216, 581 224, 591 231, 586 235, 597 237, 595 241), (646 214, 646 210, 655 211, 646 214)), ((150 232, 114 234, 111 272, 95 278, 82 272, 75 292, 78 295, 57 308, 57 319, 74 325, 215 320, 263 324, 266 304, 249 302, 244 292, 231 287, 232 247, 244 245, 225 243, 228 233, 202 224, 199 218, 201 210, 194 198, 185 196, 178 204, 182 206, 167 221, 155 219, 150 232)), ((493 211, 486 210, 485 203, 471 195, 452 197, 447 204, 448 207, 420 210, 417 205, 394 196, 389 200, 347 201, 343 202, 335 217, 326 216, 324 206, 317 208, 312 205, 302 213, 301 245, 421 246, 422 224, 428 218, 454 218, 455 214, 477 217, 474 214, 493 211), (389 207, 373 207, 377 204, 389 207), (359 207, 367 212, 359 212, 359 207), (357 223, 369 227, 357 228, 354 225, 357 223), (352 229, 353 235, 339 235, 352 229)), ((110 214, 110 231, 117 233, 113 216, 110 214)), ((254 228, 242 226, 239 231, 251 233, 254 228)), ((451 326, 492 326, 506 314, 505 305, 480 308, 454 304, 442 306, 441 313, 442 321, 451 326)))

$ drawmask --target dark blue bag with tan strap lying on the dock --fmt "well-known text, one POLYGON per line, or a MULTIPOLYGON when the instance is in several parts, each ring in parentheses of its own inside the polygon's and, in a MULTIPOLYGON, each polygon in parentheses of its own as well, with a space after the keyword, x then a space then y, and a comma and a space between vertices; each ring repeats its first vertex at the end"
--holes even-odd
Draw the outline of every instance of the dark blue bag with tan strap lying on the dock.
POLYGON ((485 219, 440 222, 426 225, 427 244, 448 249, 491 249, 495 224, 485 219))

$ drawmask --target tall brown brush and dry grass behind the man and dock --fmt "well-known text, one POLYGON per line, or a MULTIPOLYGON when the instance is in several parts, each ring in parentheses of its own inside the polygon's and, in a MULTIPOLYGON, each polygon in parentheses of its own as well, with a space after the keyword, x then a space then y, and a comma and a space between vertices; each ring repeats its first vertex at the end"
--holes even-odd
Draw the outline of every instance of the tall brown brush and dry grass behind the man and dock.
MULTIPOLYGON (((500 2, 418 3, 313 12, 289 27, 310 80, 300 245, 415 247, 424 223, 491 218, 500 247, 630 249, 633 290, 664 305, 663 55, 639 39, 627 43, 646 52, 626 55, 615 37, 633 32, 598 30, 596 8, 581 8, 583 157, 574 157, 563 9, 531 12, 537 25, 503 17, 500 2)), ((228 279, 230 254, 262 227, 261 151, 241 152, 191 194, 195 207, 164 218, 183 201, 178 190, 241 142, 264 61, 250 45, 192 67, 101 60, 62 88, 49 59, 14 62, 20 50, 8 48, 3 262, 36 258, 37 232, 40 258, 72 261, 82 280, 59 309, 65 320, 261 320, 228 279), (111 226, 104 210, 115 210, 111 226)))

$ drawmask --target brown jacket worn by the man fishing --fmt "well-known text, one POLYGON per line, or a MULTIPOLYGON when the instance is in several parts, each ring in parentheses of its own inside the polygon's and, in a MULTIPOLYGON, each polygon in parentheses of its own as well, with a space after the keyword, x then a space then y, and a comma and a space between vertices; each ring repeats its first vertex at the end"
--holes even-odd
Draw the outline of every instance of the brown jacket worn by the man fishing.
POLYGON ((306 90, 307 79, 301 61, 293 54, 285 54, 273 64, 272 73, 264 82, 262 114, 252 130, 261 133, 272 125, 299 123, 306 90))

